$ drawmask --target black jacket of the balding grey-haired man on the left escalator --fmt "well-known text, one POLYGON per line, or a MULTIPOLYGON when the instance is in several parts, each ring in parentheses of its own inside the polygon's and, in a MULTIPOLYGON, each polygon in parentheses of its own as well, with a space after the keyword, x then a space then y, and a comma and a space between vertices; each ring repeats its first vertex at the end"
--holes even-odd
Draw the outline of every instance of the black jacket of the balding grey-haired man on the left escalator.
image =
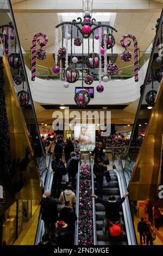
POLYGON ((57 203, 51 197, 41 199, 42 220, 48 223, 54 223, 58 220, 57 203))

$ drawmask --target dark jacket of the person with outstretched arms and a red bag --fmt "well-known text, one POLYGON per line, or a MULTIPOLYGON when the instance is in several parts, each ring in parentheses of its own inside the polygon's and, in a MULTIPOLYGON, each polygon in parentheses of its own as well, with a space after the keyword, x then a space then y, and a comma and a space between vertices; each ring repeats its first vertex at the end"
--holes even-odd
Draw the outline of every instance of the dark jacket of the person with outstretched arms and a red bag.
POLYGON ((105 215, 107 220, 110 220, 110 221, 120 220, 120 206, 125 200, 124 197, 116 201, 103 200, 99 197, 97 200, 99 203, 102 203, 105 206, 105 215))

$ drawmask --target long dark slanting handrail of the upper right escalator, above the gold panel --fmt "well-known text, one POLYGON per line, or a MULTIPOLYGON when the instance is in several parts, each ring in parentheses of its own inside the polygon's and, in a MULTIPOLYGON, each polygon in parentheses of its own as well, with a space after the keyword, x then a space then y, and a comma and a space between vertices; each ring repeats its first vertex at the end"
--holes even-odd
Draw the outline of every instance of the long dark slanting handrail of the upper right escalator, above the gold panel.
POLYGON ((136 127, 136 124, 137 124, 137 120, 139 118, 140 108, 141 108, 141 105, 142 105, 143 97, 144 97, 146 86, 147 86, 147 80, 148 80, 148 76, 149 76, 149 71, 151 70, 151 66, 152 66, 152 62, 153 62, 153 56, 154 56, 155 47, 156 47, 156 44, 158 42, 159 33, 161 31, 162 21, 163 21, 163 9, 162 9, 161 16, 160 16, 159 26, 157 28, 156 35, 155 35, 155 38, 154 38, 154 43, 153 43, 153 47, 152 47, 152 51, 151 51, 151 56, 149 58, 149 63, 148 63, 148 68, 147 68, 147 72, 146 72, 146 76, 145 76, 145 81, 143 82, 143 87, 142 87, 142 91, 141 91, 141 95, 140 95, 139 105, 137 107, 137 111, 136 111, 136 115, 135 115, 135 120, 134 120, 134 124, 133 124, 133 130, 131 132, 131 136, 130 136, 130 140, 129 140, 129 145, 128 145, 128 148, 127 148, 126 156, 128 156, 128 154, 129 154, 129 149, 130 149, 131 142, 133 140, 133 135, 134 135, 134 132, 135 132, 135 127, 136 127))

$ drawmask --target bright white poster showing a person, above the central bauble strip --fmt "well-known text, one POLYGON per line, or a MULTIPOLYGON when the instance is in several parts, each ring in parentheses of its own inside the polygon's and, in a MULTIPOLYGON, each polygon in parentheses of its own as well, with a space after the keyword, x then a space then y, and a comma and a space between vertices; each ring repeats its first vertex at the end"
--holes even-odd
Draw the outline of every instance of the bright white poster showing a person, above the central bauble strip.
POLYGON ((95 124, 76 124, 74 126, 74 141, 81 145, 80 150, 89 151, 95 148, 95 124))

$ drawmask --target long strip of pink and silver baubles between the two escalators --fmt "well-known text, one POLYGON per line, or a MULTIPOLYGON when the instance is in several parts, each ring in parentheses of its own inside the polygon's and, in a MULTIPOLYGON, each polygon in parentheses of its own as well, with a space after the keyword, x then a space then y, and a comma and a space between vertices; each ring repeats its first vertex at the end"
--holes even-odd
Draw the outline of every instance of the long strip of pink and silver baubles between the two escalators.
POLYGON ((91 167, 80 167, 78 245, 93 245, 91 167))

